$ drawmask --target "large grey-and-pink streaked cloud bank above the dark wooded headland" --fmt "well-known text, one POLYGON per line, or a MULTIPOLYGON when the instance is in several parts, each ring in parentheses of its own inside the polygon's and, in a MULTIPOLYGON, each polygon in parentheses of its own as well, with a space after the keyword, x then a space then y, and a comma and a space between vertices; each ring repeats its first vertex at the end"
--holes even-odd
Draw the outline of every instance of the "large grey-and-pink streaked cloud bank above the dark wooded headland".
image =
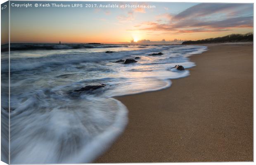
POLYGON ((162 34, 177 34, 253 28, 252 6, 252 4, 204 3, 190 7, 176 15, 160 14, 156 16, 156 21, 143 22, 142 26, 137 26, 132 30, 161 31, 162 34), (217 14, 218 16, 213 16, 212 14, 217 14), (207 16, 207 19, 205 16, 207 16), (168 21, 161 21, 159 18, 165 18, 168 21))

